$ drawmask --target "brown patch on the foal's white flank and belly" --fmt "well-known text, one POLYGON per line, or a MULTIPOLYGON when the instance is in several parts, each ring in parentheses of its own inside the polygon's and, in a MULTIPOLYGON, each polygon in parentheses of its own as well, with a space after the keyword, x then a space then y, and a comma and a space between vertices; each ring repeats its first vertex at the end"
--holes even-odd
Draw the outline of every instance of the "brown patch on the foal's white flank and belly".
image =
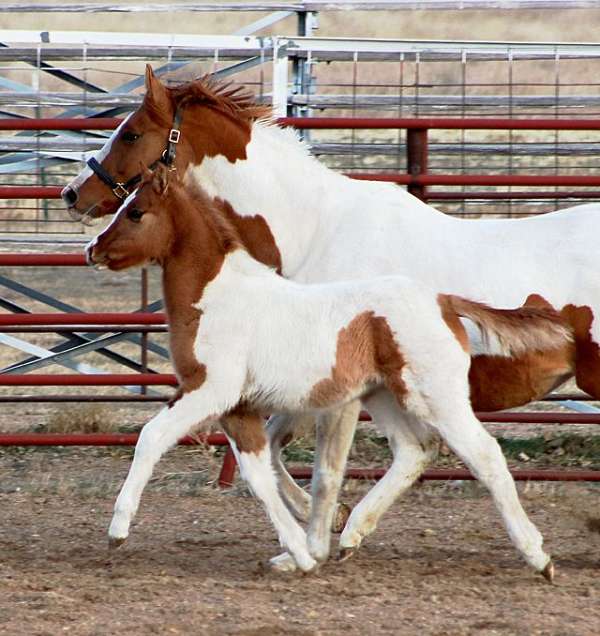
POLYGON ((317 382, 309 404, 327 407, 347 399, 350 392, 384 382, 399 403, 407 393, 402 380, 404 358, 387 320, 365 311, 340 330, 331 377, 317 382))

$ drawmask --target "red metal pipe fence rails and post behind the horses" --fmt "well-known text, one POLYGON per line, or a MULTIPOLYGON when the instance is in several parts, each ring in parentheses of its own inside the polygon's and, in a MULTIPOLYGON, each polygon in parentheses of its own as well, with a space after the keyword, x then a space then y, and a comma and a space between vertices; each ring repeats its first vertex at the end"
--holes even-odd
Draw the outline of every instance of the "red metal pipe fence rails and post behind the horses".
MULTIPOLYGON (((600 176, 540 176, 540 175, 443 175, 427 173, 427 131, 429 129, 495 129, 495 130, 600 130, 600 120, 517 120, 517 119, 367 119, 367 118, 282 118, 283 125, 297 128, 340 128, 340 129, 406 129, 407 130, 407 173, 360 174, 349 176, 357 179, 391 181, 404 184, 413 194, 424 200, 466 199, 466 198, 544 198, 546 193, 536 192, 427 192, 427 186, 566 186, 600 187, 600 176)), ((120 119, 0 119, 0 130, 98 130, 111 129, 120 119)), ((0 198, 59 198, 59 187, 43 186, 0 186, 0 198)), ((600 191, 568 191, 547 193, 548 198, 577 196, 578 198, 600 198, 600 191)), ((0 266, 82 266, 85 259, 79 254, 2 254, 0 266)), ((162 314, 0 314, 0 331, 164 331, 162 314)), ((175 376, 170 374, 101 374, 86 375, 7 375, 0 374, 0 386, 106 386, 106 385, 176 385, 175 376)), ((42 398, 43 399, 43 398, 42 398)), ((60 399, 60 398, 59 398, 60 399)), ((75 398, 74 398, 75 399, 75 398)), ((127 398, 125 398, 127 399, 127 398)), ((72 401, 72 400, 70 400, 72 401)), ((539 424, 600 424, 600 414, 586 413, 478 413, 484 422, 539 423, 539 424)), ((368 419, 362 414, 361 419, 368 419)), ((130 445, 135 444, 136 435, 68 435, 47 434, 0 435, 0 446, 8 445, 130 445)), ((195 438, 185 438, 181 443, 196 443, 195 438)), ((225 445, 222 434, 201 437, 209 444, 225 445)), ((235 460, 230 450, 219 477, 221 485, 233 480, 235 460)), ((292 475, 309 478, 309 468, 292 469, 292 475)), ((378 479, 382 470, 350 469, 348 476, 359 479, 378 479)), ((520 470, 513 471, 515 479, 560 480, 560 481, 600 481, 600 471, 577 470, 520 470)), ((423 479, 472 479, 468 471, 461 469, 430 470, 423 479)))

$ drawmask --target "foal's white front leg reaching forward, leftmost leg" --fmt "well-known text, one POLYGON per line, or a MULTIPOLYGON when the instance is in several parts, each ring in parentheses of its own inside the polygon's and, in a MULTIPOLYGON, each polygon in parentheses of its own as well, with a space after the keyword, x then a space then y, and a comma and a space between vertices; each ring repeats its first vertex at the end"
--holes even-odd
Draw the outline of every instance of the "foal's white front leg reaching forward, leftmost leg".
POLYGON ((118 546, 129 534, 129 525, 137 512, 142 492, 161 456, 184 437, 192 427, 215 413, 208 391, 186 393, 164 408, 142 429, 135 446, 133 462, 115 503, 108 530, 109 544, 118 546))

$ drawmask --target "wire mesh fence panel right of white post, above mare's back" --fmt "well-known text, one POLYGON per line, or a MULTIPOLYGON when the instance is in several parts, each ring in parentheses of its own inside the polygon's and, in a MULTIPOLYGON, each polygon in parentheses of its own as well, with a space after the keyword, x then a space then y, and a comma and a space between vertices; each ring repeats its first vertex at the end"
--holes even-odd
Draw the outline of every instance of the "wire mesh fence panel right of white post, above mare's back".
MULTIPOLYGON (((600 107, 600 47, 595 45, 314 38, 302 46, 310 60, 310 76, 304 81, 309 90, 291 96, 299 113, 570 119, 596 117, 600 107)), ((406 170, 404 132, 319 131, 311 133, 310 140, 313 151, 336 169, 406 170)), ((598 175, 599 142, 589 131, 430 131, 428 170, 457 175, 598 175)), ((565 199, 564 188, 557 188, 562 194, 552 199, 552 190, 444 186, 430 187, 428 193, 440 209, 471 217, 521 216, 598 197, 595 189, 572 188, 565 199), (503 193, 504 201, 499 198, 503 193), (447 199, 441 198, 444 194, 447 199)))

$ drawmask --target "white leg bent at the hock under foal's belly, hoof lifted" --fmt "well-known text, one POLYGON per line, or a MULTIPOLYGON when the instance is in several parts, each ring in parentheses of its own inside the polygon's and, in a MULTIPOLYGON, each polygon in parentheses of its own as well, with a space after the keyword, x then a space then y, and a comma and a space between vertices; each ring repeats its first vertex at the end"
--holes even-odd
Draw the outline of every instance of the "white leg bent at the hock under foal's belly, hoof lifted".
POLYGON ((394 461, 385 475, 356 505, 340 537, 340 558, 351 557, 377 528, 394 501, 419 478, 434 459, 438 437, 417 418, 400 409, 394 396, 380 391, 365 402, 377 428, 390 443, 394 461))

